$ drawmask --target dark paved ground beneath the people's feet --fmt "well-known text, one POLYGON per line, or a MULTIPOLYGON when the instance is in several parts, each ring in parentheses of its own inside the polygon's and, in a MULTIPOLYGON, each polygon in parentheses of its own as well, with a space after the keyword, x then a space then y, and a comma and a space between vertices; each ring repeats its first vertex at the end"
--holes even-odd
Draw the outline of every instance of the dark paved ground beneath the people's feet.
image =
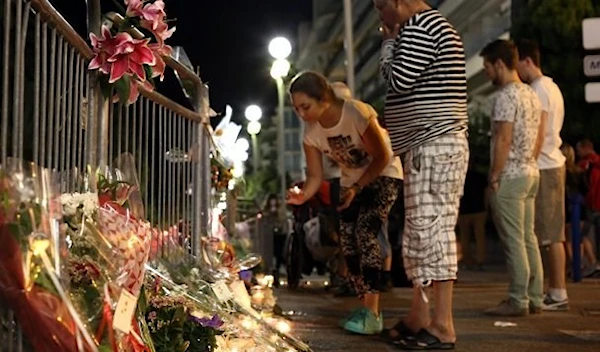
MULTIPOLYGON (((495 272, 461 273, 455 290, 456 351, 600 351, 600 280, 569 284, 571 310, 545 312, 524 318, 483 315, 505 298, 508 282, 501 268, 495 272), (495 321, 517 327, 494 327, 495 321)), ((397 288, 382 295, 386 326, 408 312, 412 291, 397 288)), ((377 338, 351 335, 338 322, 356 304, 353 298, 334 298, 319 287, 319 279, 296 292, 280 289, 278 303, 293 311, 294 333, 314 351, 395 351, 377 338)))

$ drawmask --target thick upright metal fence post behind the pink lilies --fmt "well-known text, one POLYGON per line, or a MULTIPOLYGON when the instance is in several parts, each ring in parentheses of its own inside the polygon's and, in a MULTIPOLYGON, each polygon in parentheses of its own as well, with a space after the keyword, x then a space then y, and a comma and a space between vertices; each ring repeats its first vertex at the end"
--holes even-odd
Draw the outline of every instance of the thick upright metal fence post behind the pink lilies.
MULTIPOLYGON (((102 7, 100 0, 86 0, 88 32, 100 35, 102 7)), ((86 158, 92 170, 107 164, 108 158, 108 99, 104 99, 99 73, 88 72, 88 111, 86 121, 86 158)))

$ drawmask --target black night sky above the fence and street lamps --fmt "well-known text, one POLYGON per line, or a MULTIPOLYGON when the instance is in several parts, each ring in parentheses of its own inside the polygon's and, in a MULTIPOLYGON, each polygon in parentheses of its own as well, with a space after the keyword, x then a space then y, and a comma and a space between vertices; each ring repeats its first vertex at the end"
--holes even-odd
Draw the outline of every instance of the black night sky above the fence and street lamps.
MULTIPOLYGON (((73 27, 87 37, 85 1, 50 0, 73 27)), ((103 12, 115 10, 115 2, 102 0, 103 12)), ((234 109, 234 119, 244 120, 244 109, 254 103, 270 116, 277 105, 277 90, 269 71, 269 41, 286 36, 298 53, 298 26, 312 17, 311 0, 165 0, 167 17, 177 31, 167 40, 182 46, 211 88, 211 106, 223 112, 234 109)), ((293 54, 294 54, 293 53, 293 54)), ((292 55, 293 55, 292 54, 292 55)), ((168 74, 159 92, 190 106, 175 77, 168 74)), ((214 121, 218 122, 218 121, 214 121)))

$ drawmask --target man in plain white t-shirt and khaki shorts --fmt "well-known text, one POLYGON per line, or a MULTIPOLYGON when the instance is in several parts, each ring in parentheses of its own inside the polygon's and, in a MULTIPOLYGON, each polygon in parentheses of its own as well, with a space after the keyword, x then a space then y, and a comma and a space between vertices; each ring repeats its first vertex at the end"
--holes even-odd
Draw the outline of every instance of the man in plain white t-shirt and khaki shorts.
POLYGON ((540 187, 535 202, 535 233, 540 247, 548 253, 549 290, 543 310, 569 309, 565 255, 565 157, 560 151, 560 131, 565 117, 563 96, 552 78, 540 69, 537 43, 523 40, 517 44, 521 79, 536 92, 542 103, 543 139, 537 159, 540 187))

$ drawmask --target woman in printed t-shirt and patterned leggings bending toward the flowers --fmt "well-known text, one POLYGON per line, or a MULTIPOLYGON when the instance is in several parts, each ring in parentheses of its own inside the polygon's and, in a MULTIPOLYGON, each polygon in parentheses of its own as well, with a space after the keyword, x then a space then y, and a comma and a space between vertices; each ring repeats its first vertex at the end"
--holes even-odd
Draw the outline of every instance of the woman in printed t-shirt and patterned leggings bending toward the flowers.
POLYGON ((387 134, 370 105, 338 98, 327 79, 316 72, 294 77, 289 91, 296 113, 305 122, 307 178, 300 192, 288 194, 288 203, 300 205, 315 194, 323 180, 323 154, 340 165, 340 242, 348 277, 362 303, 342 326, 354 333, 378 334, 383 318, 377 234, 398 195, 402 165, 392 156, 387 134))

